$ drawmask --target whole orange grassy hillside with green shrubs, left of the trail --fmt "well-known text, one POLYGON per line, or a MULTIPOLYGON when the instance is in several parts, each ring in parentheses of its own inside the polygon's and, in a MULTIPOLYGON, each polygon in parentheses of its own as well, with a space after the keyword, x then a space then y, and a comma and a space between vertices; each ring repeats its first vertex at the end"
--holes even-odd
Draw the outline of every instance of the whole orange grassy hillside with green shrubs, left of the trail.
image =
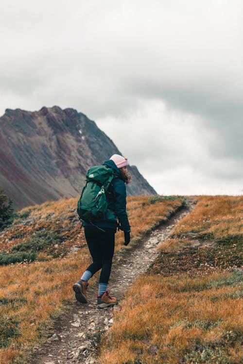
MULTIPOLYGON (((69 199, 25 208, 0 233, 0 364, 24 361, 28 348, 74 301, 72 284, 90 263, 76 203, 69 199)), ((129 198, 133 242, 184 203, 177 197, 129 198)), ((118 232, 116 252, 123 241, 118 232)))

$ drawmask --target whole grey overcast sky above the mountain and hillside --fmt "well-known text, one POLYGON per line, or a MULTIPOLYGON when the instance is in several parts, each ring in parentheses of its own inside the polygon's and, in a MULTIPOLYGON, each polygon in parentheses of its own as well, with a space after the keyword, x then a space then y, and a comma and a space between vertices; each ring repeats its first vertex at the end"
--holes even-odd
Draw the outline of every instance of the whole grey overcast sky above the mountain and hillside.
POLYGON ((0 115, 53 105, 159 194, 242 194, 243 1, 0 0, 0 115))

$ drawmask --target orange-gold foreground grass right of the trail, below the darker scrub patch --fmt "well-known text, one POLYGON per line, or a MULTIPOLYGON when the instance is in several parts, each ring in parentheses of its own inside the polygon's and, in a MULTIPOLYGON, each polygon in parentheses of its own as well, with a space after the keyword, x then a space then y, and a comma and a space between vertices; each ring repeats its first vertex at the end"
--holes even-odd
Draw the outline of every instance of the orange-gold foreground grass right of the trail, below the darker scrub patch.
POLYGON ((232 353, 238 358, 234 363, 241 363, 238 340, 243 329, 243 302, 230 298, 239 291, 239 283, 236 279, 232 286, 217 285, 228 276, 214 274, 203 280, 186 275, 169 280, 139 277, 127 291, 121 312, 105 338, 100 362, 182 363, 187 354, 201 347, 208 350, 209 360, 196 362, 192 357, 185 363, 231 363, 232 353), (222 358, 228 361, 216 357, 215 347, 221 348, 222 358))

